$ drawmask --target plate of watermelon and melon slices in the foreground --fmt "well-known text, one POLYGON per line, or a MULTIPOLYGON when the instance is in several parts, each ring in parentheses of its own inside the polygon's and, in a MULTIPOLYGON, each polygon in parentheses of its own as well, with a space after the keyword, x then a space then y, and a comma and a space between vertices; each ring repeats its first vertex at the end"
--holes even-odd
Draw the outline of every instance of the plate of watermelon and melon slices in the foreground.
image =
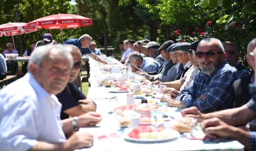
POLYGON ((155 128, 151 125, 140 125, 134 127, 124 138, 138 142, 159 142, 180 137, 180 133, 164 127, 155 128))

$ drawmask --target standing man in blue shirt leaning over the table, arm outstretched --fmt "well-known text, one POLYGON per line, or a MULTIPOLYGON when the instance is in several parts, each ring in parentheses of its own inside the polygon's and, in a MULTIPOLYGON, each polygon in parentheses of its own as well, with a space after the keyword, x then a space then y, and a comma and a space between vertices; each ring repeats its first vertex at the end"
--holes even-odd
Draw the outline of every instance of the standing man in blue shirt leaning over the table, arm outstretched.
POLYGON ((107 64, 108 62, 101 57, 97 56, 92 52, 92 50, 89 48, 89 45, 92 42, 92 37, 88 34, 82 35, 79 39, 69 39, 66 40, 62 45, 74 45, 78 47, 82 53, 82 55, 88 55, 89 57, 93 58, 94 60, 107 64))

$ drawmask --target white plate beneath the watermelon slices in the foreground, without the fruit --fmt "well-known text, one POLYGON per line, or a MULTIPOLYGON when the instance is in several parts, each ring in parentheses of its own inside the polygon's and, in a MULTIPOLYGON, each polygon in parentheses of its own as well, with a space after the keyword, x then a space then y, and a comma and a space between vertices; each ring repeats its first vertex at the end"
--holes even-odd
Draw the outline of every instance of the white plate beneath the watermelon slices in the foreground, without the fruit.
POLYGON ((172 135, 168 138, 161 138, 161 139, 137 139, 137 138, 131 138, 127 134, 124 135, 124 138, 130 141, 136 141, 136 142, 160 142, 160 141, 167 141, 171 139, 175 139, 180 137, 180 133, 175 130, 170 130, 172 135))

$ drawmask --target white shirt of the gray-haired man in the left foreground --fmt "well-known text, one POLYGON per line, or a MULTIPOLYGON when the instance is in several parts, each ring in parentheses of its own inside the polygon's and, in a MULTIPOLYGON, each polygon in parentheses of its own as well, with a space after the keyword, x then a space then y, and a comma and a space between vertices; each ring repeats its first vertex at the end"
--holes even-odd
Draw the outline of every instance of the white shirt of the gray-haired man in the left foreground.
POLYGON ((31 73, 0 91, 0 150, 25 151, 37 141, 66 141, 61 104, 31 73))

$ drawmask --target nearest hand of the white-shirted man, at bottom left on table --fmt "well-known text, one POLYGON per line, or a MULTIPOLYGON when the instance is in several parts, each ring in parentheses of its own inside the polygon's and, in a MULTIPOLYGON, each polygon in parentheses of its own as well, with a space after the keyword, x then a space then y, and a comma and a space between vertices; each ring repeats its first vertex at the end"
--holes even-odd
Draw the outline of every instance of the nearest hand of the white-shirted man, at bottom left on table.
POLYGON ((75 132, 65 143, 70 150, 89 148, 93 145, 93 135, 89 133, 75 132))

